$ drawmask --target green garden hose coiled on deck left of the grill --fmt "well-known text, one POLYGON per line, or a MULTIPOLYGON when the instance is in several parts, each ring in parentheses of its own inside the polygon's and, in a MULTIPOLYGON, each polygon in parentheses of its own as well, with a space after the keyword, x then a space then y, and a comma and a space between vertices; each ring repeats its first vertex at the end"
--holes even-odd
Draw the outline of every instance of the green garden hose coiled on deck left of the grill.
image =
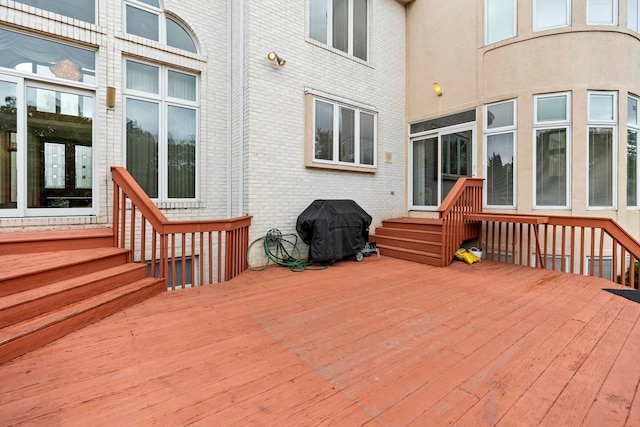
POLYGON ((316 264, 300 259, 300 249, 298 248, 298 236, 295 234, 282 235, 280 230, 272 228, 263 237, 259 237, 249 245, 247 249, 247 265, 253 271, 262 271, 274 262, 282 267, 287 267, 291 271, 304 270, 324 270, 326 265, 316 264), (254 245, 262 243, 264 253, 267 256, 267 263, 260 267, 254 267, 249 261, 249 253, 254 245), (285 248, 285 244, 289 250, 285 248))

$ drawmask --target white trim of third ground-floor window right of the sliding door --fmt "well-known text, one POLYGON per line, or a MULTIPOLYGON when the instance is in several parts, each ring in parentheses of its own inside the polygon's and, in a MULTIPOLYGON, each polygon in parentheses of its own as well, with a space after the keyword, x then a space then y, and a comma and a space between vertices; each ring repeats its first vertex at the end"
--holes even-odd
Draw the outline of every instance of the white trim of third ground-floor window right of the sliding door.
POLYGON ((618 126, 617 126, 617 122, 618 122, 618 93, 615 91, 597 91, 597 90, 590 90, 587 91, 587 141, 586 141, 586 150, 585 150, 585 166, 586 166, 586 173, 587 175, 589 174, 589 130, 591 128, 610 128, 613 130, 613 147, 611 147, 612 149, 612 159, 613 159, 613 165, 612 165, 612 173, 613 176, 611 177, 612 181, 612 205, 611 206, 589 206, 589 176, 587 176, 587 193, 586 193, 586 198, 585 201, 587 203, 587 210, 593 210, 593 211, 598 211, 598 210, 616 210, 618 208, 618 126), (611 120, 591 120, 589 118, 589 114, 591 112, 591 95, 612 95, 613 99, 613 119, 611 120))

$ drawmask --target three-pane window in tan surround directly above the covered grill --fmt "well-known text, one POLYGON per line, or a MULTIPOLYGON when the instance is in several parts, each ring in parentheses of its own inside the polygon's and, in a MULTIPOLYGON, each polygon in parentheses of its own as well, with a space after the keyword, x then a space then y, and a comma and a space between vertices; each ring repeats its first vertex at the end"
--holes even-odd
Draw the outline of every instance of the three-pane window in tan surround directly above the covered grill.
POLYGON ((347 100, 307 96, 312 110, 307 166, 375 168, 377 113, 347 100))

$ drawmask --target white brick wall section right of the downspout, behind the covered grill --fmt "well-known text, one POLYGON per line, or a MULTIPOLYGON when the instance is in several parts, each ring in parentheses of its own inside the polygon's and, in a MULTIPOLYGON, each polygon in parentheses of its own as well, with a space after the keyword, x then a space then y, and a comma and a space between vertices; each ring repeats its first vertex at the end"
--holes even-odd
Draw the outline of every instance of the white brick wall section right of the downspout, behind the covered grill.
POLYGON ((306 40, 306 3, 250 2, 245 144, 253 237, 274 227, 295 232, 315 199, 353 199, 373 216, 372 227, 404 212, 405 9, 371 2, 370 60, 363 63, 306 40), (284 68, 266 59, 271 50, 287 60, 284 68), (375 174, 305 168, 305 87, 376 107, 375 174))

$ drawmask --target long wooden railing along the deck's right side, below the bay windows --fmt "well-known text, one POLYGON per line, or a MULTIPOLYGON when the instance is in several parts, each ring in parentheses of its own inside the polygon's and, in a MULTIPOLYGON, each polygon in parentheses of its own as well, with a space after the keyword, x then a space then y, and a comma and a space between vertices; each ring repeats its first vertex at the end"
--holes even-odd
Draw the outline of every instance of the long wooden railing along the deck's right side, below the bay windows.
POLYGON ((604 277, 638 288, 640 243, 610 218, 480 213, 485 259, 604 277))

